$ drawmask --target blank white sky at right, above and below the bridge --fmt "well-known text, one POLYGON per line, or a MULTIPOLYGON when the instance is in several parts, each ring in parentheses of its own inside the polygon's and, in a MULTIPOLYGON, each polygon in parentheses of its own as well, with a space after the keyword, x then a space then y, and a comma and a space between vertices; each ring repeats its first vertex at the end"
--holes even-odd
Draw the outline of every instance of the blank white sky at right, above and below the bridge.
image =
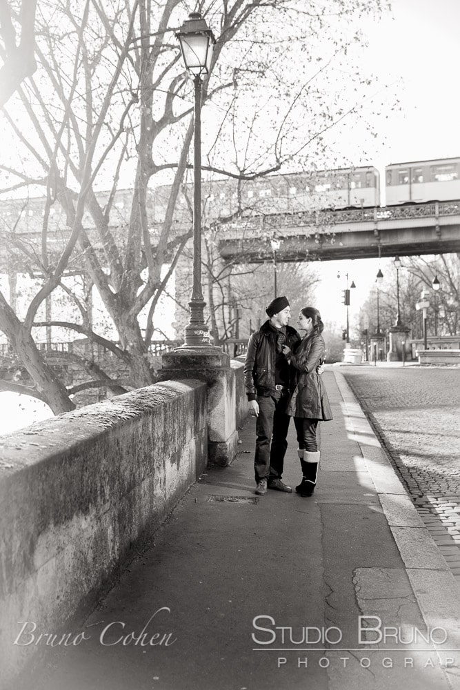
MULTIPOLYGON (((457 85, 459 63, 460 0, 392 0, 392 12, 379 22, 363 26, 369 45, 363 48, 363 63, 382 83, 396 83, 400 108, 390 112, 379 126, 379 140, 368 164, 379 168, 406 161, 420 161, 460 155, 457 85)), ((361 141, 344 142, 353 159, 362 150, 361 141)), ((382 178, 384 179, 384 177, 382 178)), ((352 317, 366 301, 379 266, 383 274, 392 259, 355 259, 315 264, 321 275, 317 307, 323 321, 344 326, 341 304, 344 278, 348 272, 357 289, 352 291, 352 317)), ((351 319, 352 319, 351 317, 351 319)))

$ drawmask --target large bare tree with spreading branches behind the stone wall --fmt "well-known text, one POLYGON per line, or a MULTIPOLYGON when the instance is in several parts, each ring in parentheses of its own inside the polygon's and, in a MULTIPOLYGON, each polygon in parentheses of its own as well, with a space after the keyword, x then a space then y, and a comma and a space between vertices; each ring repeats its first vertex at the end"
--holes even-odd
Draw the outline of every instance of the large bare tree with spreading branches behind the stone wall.
MULTIPOLYGON (((330 128, 363 106, 368 78, 350 73, 357 97, 347 102, 331 66, 357 39, 345 22, 352 26, 360 14, 379 10, 380 1, 197 5, 218 34, 212 77, 203 87, 204 175, 234 179, 241 189, 282 166, 312 164, 330 128)), ((1 296, 0 329, 34 380, 34 394, 56 413, 72 408, 70 389, 37 350, 34 329, 59 326, 85 335, 128 369, 126 386, 151 383, 155 308, 191 236, 190 219, 177 215, 192 142, 192 89, 174 39, 183 1, 86 0, 77 9, 78 15, 64 0, 39 3, 39 69, 3 108, 19 154, 2 161, 3 191, 39 189, 46 202, 35 233, 26 232, 24 214, 2 233, 3 255, 41 284, 21 318, 1 296), (168 199, 152 224, 158 183, 168 185, 168 199), (121 211, 123 187, 130 191, 121 211), (39 319, 42 304, 72 272, 84 273, 97 290, 117 343, 94 331, 81 300, 78 320, 39 319), (143 332, 139 317, 146 310, 143 332)), ((241 199, 233 214, 243 213, 241 199)), ((229 214, 217 209, 217 216, 227 221, 229 214)), ((101 369, 86 384, 107 380, 101 369)), ((112 384, 117 388, 118 381, 112 384)))

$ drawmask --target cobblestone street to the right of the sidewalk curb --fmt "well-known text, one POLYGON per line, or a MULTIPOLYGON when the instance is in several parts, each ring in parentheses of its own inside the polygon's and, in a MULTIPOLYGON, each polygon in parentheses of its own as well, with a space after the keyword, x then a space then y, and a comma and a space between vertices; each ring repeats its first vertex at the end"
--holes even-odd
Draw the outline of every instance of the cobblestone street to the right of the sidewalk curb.
POLYGON ((460 582, 460 369, 341 367, 460 582))

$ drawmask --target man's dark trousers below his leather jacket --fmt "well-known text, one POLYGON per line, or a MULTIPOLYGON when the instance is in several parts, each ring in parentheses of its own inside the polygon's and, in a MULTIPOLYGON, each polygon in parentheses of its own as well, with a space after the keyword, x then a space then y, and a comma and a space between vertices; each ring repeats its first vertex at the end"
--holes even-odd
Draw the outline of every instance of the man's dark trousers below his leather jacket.
POLYGON ((288 448, 286 437, 290 417, 286 415, 288 391, 270 397, 257 397, 259 417, 256 422, 256 453, 254 474, 256 483, 261 479, 281 479, 284 456, 288 448))

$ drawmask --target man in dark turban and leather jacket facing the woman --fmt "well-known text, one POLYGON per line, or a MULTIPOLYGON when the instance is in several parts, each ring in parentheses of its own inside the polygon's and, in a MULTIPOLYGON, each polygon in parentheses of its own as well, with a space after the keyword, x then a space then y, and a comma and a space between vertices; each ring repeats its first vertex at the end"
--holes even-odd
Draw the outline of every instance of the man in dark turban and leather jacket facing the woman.
POLYGON ((292 493, 281 481, 286 437, 290 417, 286 415, 289 398, 289 362, 283 346, 294 350, 301 337, 288 326, 290 306, 286 297, 275 297, 266 308, 269 317, 259 331, 252 333, 246 362, 244 382, 250 413, 257 417, 254 474, 257 495, 268 489, 292 493))

